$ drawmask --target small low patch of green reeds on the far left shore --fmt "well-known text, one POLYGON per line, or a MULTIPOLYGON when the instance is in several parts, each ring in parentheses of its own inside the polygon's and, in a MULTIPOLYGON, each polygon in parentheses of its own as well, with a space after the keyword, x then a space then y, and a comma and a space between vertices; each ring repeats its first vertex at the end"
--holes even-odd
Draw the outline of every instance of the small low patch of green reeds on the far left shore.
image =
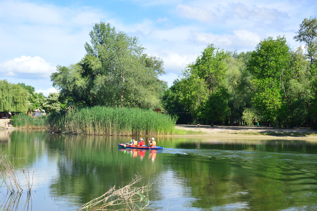
POLYGON ((43 129, 47 125, 46 116, 32 117, 30 115, 18 114, 12 117, 12 125, 21 129, 43 129))

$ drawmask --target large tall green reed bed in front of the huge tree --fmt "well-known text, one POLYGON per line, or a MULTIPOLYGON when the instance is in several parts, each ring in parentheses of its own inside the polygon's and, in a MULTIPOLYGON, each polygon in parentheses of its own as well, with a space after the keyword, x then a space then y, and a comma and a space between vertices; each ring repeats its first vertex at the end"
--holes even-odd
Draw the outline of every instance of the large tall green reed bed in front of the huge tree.
POLYGON ((48 116, 52 132, 86 135, 170 135, 176 119, 136 108, 69 108, 48 116))

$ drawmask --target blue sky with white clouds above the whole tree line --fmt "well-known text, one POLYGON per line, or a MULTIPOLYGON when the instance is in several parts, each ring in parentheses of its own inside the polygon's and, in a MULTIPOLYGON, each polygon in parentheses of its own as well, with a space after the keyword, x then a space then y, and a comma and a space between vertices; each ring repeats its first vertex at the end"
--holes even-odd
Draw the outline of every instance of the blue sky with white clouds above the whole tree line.
POLYGON ((225 50, 254 50, 268 36, 285 36, 291 48, 317 1, 1 1, 0 80, 24 82, 48 95, 56 65, 85 55, 95 23, 110 23, 139 38, 146 53, 163 59, 169 85, 209 43, 225 50))

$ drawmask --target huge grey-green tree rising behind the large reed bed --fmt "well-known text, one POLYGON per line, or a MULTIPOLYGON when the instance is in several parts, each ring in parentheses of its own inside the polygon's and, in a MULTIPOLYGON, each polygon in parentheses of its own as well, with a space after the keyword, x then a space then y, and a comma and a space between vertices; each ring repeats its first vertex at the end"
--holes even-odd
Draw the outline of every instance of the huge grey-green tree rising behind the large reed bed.
POLYGON ((87 54, 77 64, 57 67, 53 86, 69 101, 84 105, 161 107, 166 83, 158 76, 163 61, 148 56, 138 38, 96 23, 85 44, 87 54))

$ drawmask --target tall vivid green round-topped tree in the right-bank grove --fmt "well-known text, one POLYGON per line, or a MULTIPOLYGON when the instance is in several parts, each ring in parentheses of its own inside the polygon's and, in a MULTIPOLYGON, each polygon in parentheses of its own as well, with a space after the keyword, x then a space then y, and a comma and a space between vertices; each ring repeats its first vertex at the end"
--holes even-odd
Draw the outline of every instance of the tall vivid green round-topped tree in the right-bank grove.
POLYGON ((290 48, 284 37, 272 37, 261 41, 252 52, 248 70, 253 75, 251 85, 255 90, 252 102, 263 116, 276 121, 283 108, 284 97, 281 82, 289 74, 290 48))

